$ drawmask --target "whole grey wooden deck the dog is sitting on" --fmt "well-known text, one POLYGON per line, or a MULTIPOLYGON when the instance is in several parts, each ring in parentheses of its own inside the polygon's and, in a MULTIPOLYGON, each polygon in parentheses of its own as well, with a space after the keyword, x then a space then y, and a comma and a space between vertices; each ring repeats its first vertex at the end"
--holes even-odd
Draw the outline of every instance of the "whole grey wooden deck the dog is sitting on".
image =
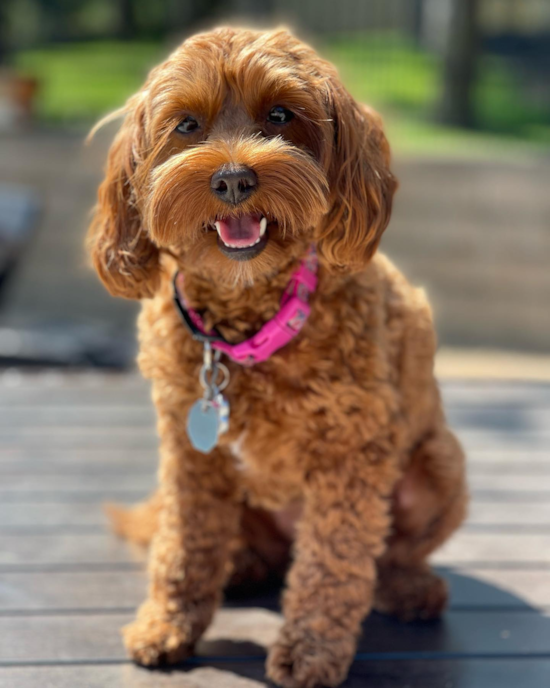
MULTIPOLYGON (((468 523, 435 563, 441 622, 373 615, 347 688, 550 685, 550 384, 447 382, 469 455, 468 523)), ((101 503, 154 484, 157 440, 135 375, 0 375, 0 687, 254 688, 281 619, 277 595, 221 610, 198 656, 133 666, 119 628, 145 593, 143 554, 101 503)))

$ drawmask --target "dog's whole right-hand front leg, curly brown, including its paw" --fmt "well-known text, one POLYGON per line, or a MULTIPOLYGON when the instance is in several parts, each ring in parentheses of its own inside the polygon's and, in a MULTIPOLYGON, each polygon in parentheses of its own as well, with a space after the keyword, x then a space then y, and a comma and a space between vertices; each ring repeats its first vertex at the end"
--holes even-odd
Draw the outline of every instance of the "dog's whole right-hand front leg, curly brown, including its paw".
POLYGON ((267 661, 269 677, 284 688, 337 686, 345 679, 390 525, 398 470, 389 442, 322 463, 307 480, 285 624, 267 661))

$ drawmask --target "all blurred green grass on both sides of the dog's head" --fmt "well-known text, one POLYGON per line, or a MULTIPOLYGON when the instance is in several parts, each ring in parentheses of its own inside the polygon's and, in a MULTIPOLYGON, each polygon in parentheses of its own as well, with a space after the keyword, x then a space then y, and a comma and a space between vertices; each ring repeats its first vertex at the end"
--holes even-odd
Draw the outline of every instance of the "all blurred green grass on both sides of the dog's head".
MULTIPOLYGON (((506 65, 484 59, 476 90, 479 131, 435 122, 440 64, 395 34, 333 37, 321 52, 353 95, 379 109, 395 150, 430 155, 515 155, 550 145, 550 114, 529 104, 506 65)), ((93 42, 29 50, 16 66, 39 78, 39 116, 90 124, 124 103, 167 53, 155 43, 93 42)))

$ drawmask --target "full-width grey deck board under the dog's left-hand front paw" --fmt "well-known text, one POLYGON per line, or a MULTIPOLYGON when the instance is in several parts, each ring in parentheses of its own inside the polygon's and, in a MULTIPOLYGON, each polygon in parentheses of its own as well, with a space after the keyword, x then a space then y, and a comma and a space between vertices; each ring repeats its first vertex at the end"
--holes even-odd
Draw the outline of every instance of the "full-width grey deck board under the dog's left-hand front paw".
MULTIPOLYGON (((124 661, 119 629, 131 612, 75 613, 0 617, 2 664, 65 661, 124 661)), ((261 608, 222 609, 205 639, 201 657, 265 657, 282 623, 275 611, 261 608), (265 639, 265 642, 264 642, 265 639)), ((532 610, 449 611, 441 622, 403 624, 372 614, 363 625, 357 653, 363 661, 387 656, 412 659, 468 657, 519 658, 548 651, 550 614, 532 610)))

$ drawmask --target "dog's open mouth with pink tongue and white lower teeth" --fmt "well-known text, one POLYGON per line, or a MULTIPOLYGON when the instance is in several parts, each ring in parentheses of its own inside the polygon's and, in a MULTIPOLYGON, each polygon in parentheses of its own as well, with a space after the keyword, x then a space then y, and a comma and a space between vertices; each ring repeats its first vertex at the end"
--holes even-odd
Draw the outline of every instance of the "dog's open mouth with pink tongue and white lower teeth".
POLYGON ((232 260, 250 260, 267 245, 267 218, 255 213, 238 217, 219 217, 214 225, 218 232, 218 248, 232 260))

